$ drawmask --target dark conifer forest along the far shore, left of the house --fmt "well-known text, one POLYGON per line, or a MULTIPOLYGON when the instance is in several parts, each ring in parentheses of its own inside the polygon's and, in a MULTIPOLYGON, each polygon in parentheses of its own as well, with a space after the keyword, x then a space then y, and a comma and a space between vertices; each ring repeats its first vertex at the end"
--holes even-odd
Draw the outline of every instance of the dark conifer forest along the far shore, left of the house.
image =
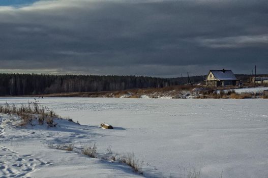
POLYGON ((180 81, 143 76, 0 74, 0 96, 101 92, 176 84, 180 81))

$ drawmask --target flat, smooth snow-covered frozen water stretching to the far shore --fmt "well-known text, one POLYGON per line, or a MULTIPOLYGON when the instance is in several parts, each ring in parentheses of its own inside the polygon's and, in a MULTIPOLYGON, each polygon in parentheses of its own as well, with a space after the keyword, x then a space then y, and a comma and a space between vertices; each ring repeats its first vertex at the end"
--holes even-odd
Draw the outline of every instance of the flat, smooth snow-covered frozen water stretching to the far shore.
MULTIPOLYGON (((0 98, 22 104, 32 98, 0 98)), ((133 152, 165 176, 268 177, 268 100, 45 98, 40 104, 99 129, 99 151, 133 152), (186 170, 187 169, 187 170, 186 170)))

